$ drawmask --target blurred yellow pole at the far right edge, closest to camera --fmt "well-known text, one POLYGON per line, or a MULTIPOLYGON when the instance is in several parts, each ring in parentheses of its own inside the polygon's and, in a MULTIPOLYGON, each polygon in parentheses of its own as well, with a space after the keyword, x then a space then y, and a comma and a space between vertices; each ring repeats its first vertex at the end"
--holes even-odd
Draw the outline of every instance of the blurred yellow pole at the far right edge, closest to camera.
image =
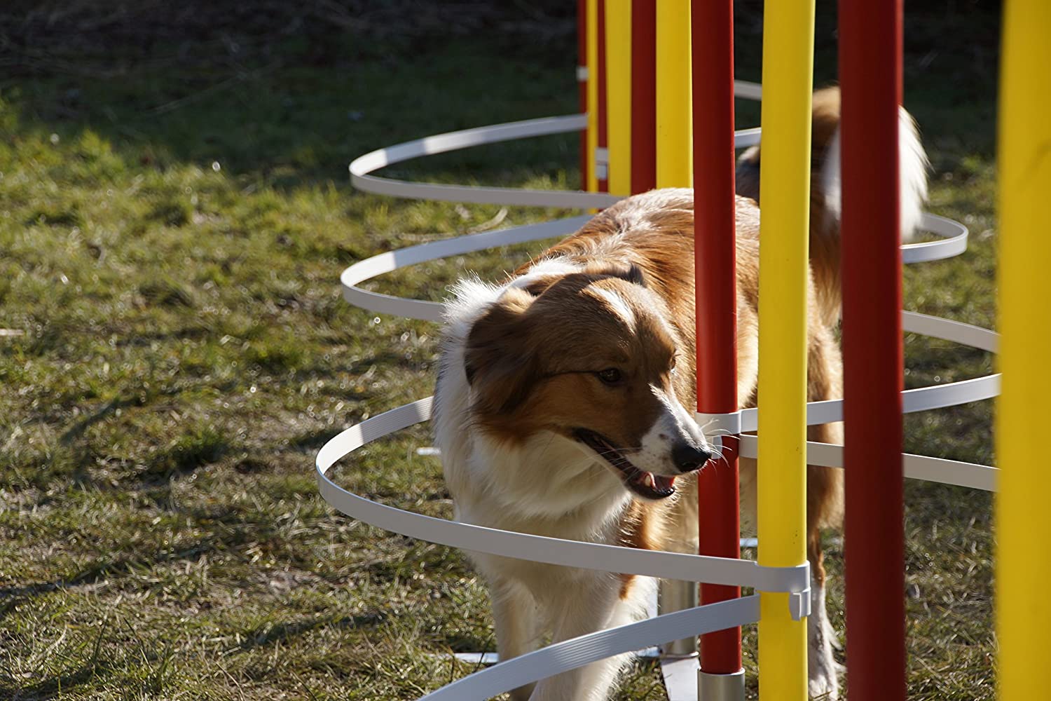
MULTIPOLYGON (((996 638, 1000 699, 1051 689, 1051 3, 1004 3, 1000 83, 996 638), (1027 543, 1035 543, 1029 547, 1027 543)), ((766 164, 763 164, 766 167, 766 164)), ((766 197, 765 193, 763 197, 766 197)))

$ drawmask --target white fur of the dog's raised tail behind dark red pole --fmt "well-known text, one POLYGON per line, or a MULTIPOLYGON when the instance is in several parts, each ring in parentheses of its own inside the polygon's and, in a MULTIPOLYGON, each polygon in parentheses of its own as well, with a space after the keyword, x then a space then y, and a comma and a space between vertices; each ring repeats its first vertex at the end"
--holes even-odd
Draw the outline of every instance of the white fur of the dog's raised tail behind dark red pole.
MULTIPOLYGON (((920 143, 916 123, 904 107, 898 108, 898 158, 902 241, 909 242, 915 238, 916 228, 923 220, 923 204, 927 202, 927 170, 930 168, 930 162, 920 143)), ((840 220, 843 213, 840 127, 836 127, 836 133, 822 160, 821 189, 825 193, 825 210, 840 220)))

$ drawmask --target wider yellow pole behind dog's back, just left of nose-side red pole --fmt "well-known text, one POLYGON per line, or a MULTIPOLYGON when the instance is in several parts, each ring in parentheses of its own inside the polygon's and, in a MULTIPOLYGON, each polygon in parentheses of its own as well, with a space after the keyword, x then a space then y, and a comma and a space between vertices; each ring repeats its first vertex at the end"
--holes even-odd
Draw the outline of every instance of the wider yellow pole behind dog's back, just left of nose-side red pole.
POLYGON ((694 184, 689 0, 657 3, 657 187, 694 184))

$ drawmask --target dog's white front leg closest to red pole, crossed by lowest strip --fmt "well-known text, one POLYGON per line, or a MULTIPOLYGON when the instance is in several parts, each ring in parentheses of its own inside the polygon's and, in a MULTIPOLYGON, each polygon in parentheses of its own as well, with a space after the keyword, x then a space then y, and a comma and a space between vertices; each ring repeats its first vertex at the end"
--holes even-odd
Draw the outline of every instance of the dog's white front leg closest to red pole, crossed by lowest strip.
MULTIPOLYGON (((574 581, 561 596, 554 620, 552 642, 561 642, 586 633, 630 623, 638 617, 652 583, 635 578, 638 585, 621 586, 617 575, 596 573, 574 581), (624 594, 624 597, 621 597, 624 594)), ((530 701, 604 701, 631 655, 618 655, 537 682, 530 701)))

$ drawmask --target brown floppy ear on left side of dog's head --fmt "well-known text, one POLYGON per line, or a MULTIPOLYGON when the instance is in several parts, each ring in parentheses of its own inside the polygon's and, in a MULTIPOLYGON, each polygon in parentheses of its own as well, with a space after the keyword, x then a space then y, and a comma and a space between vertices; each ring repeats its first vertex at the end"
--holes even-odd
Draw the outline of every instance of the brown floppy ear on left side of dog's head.
POLYGON ((463 355, 467 382, 483 413, 506 414, 529 394, 535 354, 526 332, 533 296, 509 289, 471 328, 463 355))

